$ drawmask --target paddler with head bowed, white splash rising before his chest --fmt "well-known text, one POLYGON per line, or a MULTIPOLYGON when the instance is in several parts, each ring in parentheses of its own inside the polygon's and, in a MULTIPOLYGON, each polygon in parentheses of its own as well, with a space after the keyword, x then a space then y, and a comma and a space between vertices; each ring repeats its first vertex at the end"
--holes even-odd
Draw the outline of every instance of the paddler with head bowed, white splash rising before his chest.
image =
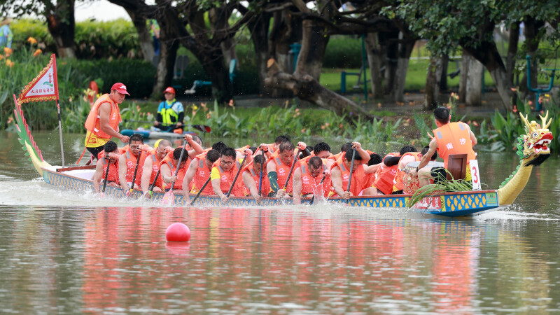
POLYGON ((326 162, 327 159, 313 156, 309 158, 307 164, 297 167, 293 172, 293 204, 301 204, 302 197, 307 198, 314 194, 328 197, 330 170, 327 169, 326 162))

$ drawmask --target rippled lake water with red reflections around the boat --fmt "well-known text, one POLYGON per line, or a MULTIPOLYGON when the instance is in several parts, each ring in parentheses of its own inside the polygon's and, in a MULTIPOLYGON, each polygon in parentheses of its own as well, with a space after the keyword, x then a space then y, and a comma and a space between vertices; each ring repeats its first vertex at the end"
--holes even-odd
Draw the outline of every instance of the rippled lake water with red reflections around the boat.
MULTIPOLYGON (((36 134, 60 164, 57 133, 36 134)), ((183 209, 52 188, 16 134, 0 135, 1 313, 560 312, 558 158, 533 169, 512 207, 474 218, 183 209), (189 226, 188 243, 165 241, 175 222, 189 226)), ((75 162, 83 136, 64 141, 75 162)), ((479 152, 483 183, 496 188, 517 161, 479 152)))

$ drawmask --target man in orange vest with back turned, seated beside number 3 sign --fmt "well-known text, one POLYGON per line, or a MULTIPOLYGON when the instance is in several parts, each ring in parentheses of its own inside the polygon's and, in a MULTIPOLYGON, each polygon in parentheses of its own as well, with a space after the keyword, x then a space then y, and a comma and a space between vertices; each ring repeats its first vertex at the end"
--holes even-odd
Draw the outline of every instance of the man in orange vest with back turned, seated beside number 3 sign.
POLYGON ((450 154, 466 154, 467 169, 465 181, 470 182, 470 160, 476 160, 477 153, 472 149, 477 144, 477 137, 470 127, 463 122, 450 123, 451 114, 449 109, 438 107, 433 111, 436 130, 433 130, 433 138, 430 148, 422 156, 420 164, 412 171, 412 176, 418 176, 420 186, 426 186, 433 180, 435 183, 445 181, 447 178, 447 159, 450 154), (430 162, 435 151, 440 153, 443 159, 443 167, 425 167, 430 162))

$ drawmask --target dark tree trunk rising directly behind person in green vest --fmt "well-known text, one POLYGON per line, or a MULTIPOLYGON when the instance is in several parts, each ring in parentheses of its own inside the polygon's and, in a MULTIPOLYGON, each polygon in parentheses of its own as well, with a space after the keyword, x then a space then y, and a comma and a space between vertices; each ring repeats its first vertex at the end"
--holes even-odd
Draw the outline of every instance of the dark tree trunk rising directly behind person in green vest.
POLYGON ((179 42, 166 40, 167 37, 165 31, 162 29, 160 32, 160 62, 158 62, 158 67, 156 68, 155 85, 153 86, 151 94, 152 99, 159 99, 162 97, 163 91, 166 87, 171 85, 173 79, 173 67, 175 66, 177 50, 179 50, 179 42))

